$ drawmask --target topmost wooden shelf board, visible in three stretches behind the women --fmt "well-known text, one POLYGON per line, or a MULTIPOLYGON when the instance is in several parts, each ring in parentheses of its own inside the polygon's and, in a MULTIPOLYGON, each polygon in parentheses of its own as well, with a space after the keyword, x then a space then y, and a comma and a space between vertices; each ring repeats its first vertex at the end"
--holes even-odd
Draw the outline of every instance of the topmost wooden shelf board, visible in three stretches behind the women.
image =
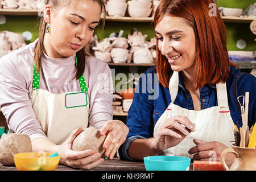
MULTIPOLYGON (((1 15, 38 15, 41 13, 41 10, 22 10, 22 9, 0 9, 1 15)), ((224 22, 232 22, 232 23, 250 23, 251 21, 256 19, 256 16, 240 18, 236 16, 222 16, 224 22)), ((106 16, 107 21, 114 22, 153 22, 154 17, 143 17, 143 18, 133 18, 130 16, 125 17, 114 17, 114 16, 106 16)))

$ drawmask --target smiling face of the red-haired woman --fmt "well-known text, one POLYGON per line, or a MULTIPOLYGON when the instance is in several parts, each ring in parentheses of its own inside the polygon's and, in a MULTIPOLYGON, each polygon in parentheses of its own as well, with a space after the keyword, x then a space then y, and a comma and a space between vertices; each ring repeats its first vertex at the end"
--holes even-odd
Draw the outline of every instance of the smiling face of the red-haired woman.
POLYGON ((195 34, 183 18, 165 15, 156 25, 155 33, 158 48, 173 71, 183 71, 195 65, 195 34))

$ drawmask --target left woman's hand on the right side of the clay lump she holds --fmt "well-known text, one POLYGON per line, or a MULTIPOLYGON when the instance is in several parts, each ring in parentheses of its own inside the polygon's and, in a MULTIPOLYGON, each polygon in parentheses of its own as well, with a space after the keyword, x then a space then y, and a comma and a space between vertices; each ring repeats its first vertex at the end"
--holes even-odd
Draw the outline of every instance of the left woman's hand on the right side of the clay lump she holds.
POLYGON ((125 142, 128 133, 129 128, 122 121, 109 120, 104 124, 101 128, 101 136, 107 136, 103 144, 107 158, 114 158, 115 152, 125 142))

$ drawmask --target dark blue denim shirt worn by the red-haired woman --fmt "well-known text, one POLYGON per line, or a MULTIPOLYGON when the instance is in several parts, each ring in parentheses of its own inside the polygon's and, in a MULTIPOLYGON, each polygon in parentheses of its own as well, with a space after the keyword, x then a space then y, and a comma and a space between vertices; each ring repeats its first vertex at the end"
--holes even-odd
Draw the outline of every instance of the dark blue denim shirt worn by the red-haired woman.
MULTIPOLYGON (((245 92, 250 93, 248 111, 248 126, 250 129, 256 120, 256 77, 249 73, 242 73, 239 69, 230 65, 230 75, 226 81, 226 89, 230 114, 238 128, 242 127, 242 118, 237 97, 245 96, 245 92)), ((199 89, 199 92, 201 109, 218 105, 216 85, 207 84, 199 89)), ((170 103, 169 88, 158 83, 156 67, 148 68, 139 78, 133 103, 128 111, 126 125, 129 127, 129 134, 126 141, 119 148, 121 159, 132 160, 127 151, 133 140, 153 137, 154 126, 170 103)), ((179 72, 179 89, 174 104, 185 109, 194 109, 191 94, 185 88, 181 72, 179 72)))

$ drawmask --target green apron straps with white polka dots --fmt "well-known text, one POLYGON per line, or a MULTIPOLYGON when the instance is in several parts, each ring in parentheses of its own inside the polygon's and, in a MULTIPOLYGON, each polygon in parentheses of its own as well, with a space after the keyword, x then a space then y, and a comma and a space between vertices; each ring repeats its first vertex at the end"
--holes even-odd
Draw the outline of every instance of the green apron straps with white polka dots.
MULTIPOLYGON (((77 67, 77 57, 75 55, 75 64, 77 67)), ((39 89, 39 82, 40 82, 40 71, 36 71, 36 64, 34 63, 34 75, 33 75, 33 89, 39 89)), ((88 92, 84 75, 79 78, 79 84, 81 88, 81 92, 88 92)))

